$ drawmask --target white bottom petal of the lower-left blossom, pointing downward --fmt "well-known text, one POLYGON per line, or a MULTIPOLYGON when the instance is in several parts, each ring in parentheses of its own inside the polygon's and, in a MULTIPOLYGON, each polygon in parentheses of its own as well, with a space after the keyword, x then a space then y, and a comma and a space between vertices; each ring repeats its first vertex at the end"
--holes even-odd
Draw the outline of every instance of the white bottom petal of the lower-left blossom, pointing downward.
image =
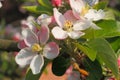
POLYGON ((44 58, 42 55, 36 55, 31 61, 30 68, 33 74, 40 73, 42 67, 44 65, 44 58))

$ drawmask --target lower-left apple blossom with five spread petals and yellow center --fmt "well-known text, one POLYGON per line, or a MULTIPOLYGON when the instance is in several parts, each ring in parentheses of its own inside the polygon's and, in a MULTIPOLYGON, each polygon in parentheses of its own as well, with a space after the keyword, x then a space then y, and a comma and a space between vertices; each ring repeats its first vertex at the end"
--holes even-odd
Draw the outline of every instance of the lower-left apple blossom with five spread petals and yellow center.
POLYGON ((26 28, 22 31, 24 42, 27 47, 21 49, 15 60, 18 65, 26 66, 30 64, 33 74, 38 74, 44 65, 44 57, 53 59, 59 54, 59 47, 55 42, 49 42, 49 29, 42 26, 37 34, 26 28))

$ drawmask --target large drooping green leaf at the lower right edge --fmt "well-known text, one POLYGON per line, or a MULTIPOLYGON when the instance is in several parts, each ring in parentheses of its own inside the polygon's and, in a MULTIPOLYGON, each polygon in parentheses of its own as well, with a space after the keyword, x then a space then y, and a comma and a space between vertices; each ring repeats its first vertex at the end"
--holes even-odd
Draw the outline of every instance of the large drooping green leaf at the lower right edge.
POLYGON ((97 51, 97 56, 102 60, 113 74, 118 77, 117 57, 110 44, 101 38, 93 39, 88 42, 94 50, 97 51))

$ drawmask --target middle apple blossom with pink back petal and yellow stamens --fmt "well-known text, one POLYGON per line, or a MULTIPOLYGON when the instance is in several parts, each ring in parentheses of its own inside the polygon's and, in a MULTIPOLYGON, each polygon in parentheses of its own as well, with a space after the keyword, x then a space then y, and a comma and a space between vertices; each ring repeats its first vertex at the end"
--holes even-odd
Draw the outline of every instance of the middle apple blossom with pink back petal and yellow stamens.
POLYGON ((81 30, 87 29, 89 26, 88 21, 77 20, 71 10, 68 10, 62 15, 56 8, 53 9, 54 17, 59 26, 52 29, 52 34, 56 39, 65 39, 68 36, 72 39, 78 39, 85 33, 81 30))

